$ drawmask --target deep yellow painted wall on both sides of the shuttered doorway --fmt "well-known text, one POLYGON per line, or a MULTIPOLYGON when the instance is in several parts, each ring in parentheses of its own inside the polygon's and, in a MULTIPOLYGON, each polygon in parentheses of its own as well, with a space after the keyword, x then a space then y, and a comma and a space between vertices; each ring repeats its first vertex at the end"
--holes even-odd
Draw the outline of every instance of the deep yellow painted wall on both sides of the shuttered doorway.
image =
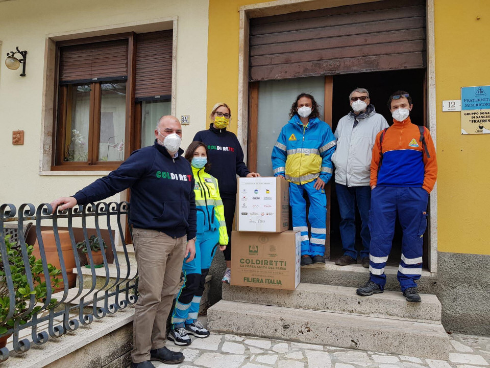
MULTIPOLYGON (((236 117, 238 9, 260 2, 263 1, 209 1, 208 114, 215 102, 225 101, 236 117)), ((461 136, 460 113, 441 111, 442 100, 460 99, 460 87, 490 85, 488 34, 488 0, 435 0, 440 251, 490 254, 490 136, 461 136), (477 20, 477 16, 481 18, 477 20)), ((237 131, 236 120, 230 130, 237 131)))

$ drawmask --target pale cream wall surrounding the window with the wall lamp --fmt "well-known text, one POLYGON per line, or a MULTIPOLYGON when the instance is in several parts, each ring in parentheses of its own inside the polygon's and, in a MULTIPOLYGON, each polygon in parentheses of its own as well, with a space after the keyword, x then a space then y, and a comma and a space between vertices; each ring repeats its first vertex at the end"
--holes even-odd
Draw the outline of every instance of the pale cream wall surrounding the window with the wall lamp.
MULTIPOLYGON (((183 146, 202 129, 206 115, 207 0, 21 0, 0 2, 0 203, 51 202, 74 194, 99 176, 39 175, 44 48, 47 34, 119 27, 178 16, 176 114, 190 114, 183 146), (9 71, 5 53, 28 51, 27 76, 9 71), (2 56, 3 55, 3 56, 2 56), (25 131, 23 146, 12 130, 25 131)), ((156 122, 155 122, 156 124, 156 122)), ((118 197, 112 200, 118 200, 118 197)))

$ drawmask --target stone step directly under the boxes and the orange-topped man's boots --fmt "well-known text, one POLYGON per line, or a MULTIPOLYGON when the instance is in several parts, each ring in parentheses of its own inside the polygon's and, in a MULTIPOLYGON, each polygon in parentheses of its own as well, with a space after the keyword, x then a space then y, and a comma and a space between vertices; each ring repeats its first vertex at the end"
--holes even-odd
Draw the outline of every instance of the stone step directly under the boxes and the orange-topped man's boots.
POLYGON ((300 283, 296 290, 274 290, 223 285, 223 300, 370 317, 415 320, 440 324, 437 296, 421 294, 421 303, 409 303, 401 292, 384 291, 359 296, 356 288, 300 283))

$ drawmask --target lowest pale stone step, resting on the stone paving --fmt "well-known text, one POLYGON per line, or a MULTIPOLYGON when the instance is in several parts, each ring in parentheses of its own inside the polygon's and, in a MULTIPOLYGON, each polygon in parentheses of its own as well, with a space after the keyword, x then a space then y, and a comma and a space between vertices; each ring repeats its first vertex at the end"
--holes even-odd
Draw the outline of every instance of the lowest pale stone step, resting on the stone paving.
POLYGON ((223 300, 208 309, 208 328, 423 358, 447 360, 449 351, 442 325, 223 300))

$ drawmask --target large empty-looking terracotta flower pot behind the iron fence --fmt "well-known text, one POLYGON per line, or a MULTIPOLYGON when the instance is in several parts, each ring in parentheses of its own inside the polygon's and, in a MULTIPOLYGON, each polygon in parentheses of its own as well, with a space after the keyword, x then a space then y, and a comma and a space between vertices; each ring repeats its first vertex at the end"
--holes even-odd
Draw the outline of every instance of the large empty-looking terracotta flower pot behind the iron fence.
MULTIPOLYGON (((60 245, 63 253, 63 260, 65 262, 66 276, 68 278, 68 288, 72 288, 75 287, 75 284, 77 283, 77 275, 73 273, 73 269, 77 266, 75 264, 75 255, 73 254, 73 248, 71 247, 70 234, 66 230, 60 230, 58 231, 58 234, 60 236, 60 245)), ((53 230, 42 231, 41 236, 42 236, 42 243, 44 244, 44 252, 46 255, 47 263, 51 263, 56 268, 61 269, 60 258, 58 256, 58 249, 56 248, 54 231, 53 230)), ((33 256, 36 257, 36 259, 41 258, 39 243, 37 240, 36 243, 34 243, 34 249, 32 251, 32 254, 33 256)), ((59 278, 61 280, 60 286, 53 292, 63 290, 64 288, 61 274, 59 278)), ((44 281, 42 275, 41 275, 41 281, 44 281)))

